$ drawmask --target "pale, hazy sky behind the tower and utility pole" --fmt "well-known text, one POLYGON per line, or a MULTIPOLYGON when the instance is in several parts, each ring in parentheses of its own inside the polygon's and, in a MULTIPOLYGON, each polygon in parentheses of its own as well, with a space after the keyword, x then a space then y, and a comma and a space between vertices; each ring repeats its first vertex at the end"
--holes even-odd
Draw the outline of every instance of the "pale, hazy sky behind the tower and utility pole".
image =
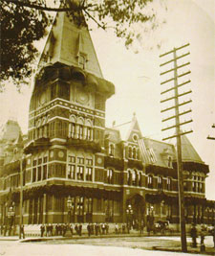
MULTIPOLYGON (((183 91, 190 88, 193 91, 188 97, 192 99, 192 105, 186 106, 192 108, 192 114, 186 120, 192 118, 193 123, 185 129, 193 129, 188 138, 210 167, 206 197, 215 199, 215 142, 206 139, 208 134, 215 137, 215 129, 211 128, 215 123, 215 1, 164 0, 165 5, 160 8, 158 2, 158 18, 165 19, 165 23, 156 33, 144 33, 144 28, 139 28, 142 40, 130 50, 126 50, 111 32, 94 30, 92 33, 104 78, 116 85, 116 95, 107 102, 106 125, 111 126, 113 121, 117 124, 130 121, 136 112, 143 136, 161 139, 171 135, 171 130, 166 134, 161 132, 161 108, 164 105, 160 104, 163 90, 160 83, 164 78, 160 77, 159 55, 189 42, 190 46, 183 52, 190 52, 184 62, 191 64, 184 71, 191 71, 187 76, 191 82, 183 86, 183 91), (160 50, 156 47, 158 44, 160 50)), ((28 88, 19 95, 12 88, 1 94, 0 124, 15 117, 23 132, 27 132, 30 97, 31 89, 28 88)))

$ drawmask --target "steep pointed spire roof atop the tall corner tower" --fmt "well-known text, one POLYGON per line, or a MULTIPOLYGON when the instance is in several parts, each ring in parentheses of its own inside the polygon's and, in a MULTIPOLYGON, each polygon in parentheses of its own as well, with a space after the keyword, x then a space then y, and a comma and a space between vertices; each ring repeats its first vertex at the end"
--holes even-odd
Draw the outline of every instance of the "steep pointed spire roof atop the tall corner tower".
POLYGON ((86 72, 103 78, 97 54, 87 27, 77 27, 66 12, 58 12, 39 60, 39 69, 49 63, 80 66, 84 58, 86 72))

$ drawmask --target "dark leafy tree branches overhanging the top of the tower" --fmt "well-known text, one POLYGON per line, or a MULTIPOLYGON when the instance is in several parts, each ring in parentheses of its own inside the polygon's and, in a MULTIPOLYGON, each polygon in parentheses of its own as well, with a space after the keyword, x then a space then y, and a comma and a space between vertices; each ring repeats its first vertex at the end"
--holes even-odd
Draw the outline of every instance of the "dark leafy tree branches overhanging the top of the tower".
MULTIPOLYGON (((153 19, 143 9, 153 0, 3 0, 0 7, 1 71, 0 79, 10 78, 16 86, 32 75, 32 62, 37 50, 33 44, 46 35, 52 22, 50 12, 67 12, 78 26, 92 19, 99 28, 112 28, 125 45, 132 44, 137 35, 132 25, 153 19)), ((0 85, 0 89, 3 85, 0 85)))

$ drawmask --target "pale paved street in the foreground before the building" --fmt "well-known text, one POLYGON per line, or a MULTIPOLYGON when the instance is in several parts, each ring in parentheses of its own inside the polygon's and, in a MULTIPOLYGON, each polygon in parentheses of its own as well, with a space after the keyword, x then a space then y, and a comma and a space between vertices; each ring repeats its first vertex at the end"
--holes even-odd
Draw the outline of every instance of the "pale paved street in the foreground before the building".
MULTIPOLYGON (((189 244, 190 238, 187 239, 189 244)), ((212 248, 212 237, 205 238, 206 252, 215 255, 212 248)), ((147 255, 183 255, 182 252, 174 252, 180 248, 179 237, 126 237, 126 238, 102 238, 102 239, 73 239, 73 240, 48 240, 43 242, 20 243, 18 241, 0 241, 0 256, 147 256, 147 255), (164 251, 163 248, 173 251, 164 251)), ((191 252, 191 248, 188 247, 191 252)), ((200 249, 192 250, 192 254, 199 253, 200 249)))

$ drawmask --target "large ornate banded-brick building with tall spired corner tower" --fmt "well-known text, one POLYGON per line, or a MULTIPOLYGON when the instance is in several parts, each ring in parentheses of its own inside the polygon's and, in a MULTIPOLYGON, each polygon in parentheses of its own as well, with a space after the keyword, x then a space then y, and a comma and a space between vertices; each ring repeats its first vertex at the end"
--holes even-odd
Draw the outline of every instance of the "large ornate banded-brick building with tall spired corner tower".
MULTIPOLYGON (((57 13, 34 79, 28 135, 12 120, 1 131, 1 224, 19 222, 20 170, 24 224, 138 225, 148 216, 179 223, 174 145, 146 138, 135 114, 106 128, 106 101, 114 94, 87 28, 57 13)), ((205 198, 209 167, 185 135, 182 147, 185 220, 213 224, 215 202, 205 198)))

